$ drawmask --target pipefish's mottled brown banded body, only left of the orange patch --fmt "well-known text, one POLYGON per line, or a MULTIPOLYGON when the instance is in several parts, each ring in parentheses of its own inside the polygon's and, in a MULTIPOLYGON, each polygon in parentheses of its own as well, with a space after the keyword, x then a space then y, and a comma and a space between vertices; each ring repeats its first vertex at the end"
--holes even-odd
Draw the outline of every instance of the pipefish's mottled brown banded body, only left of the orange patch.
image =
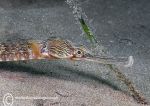
POLYGON ((0 61, 17 61, 29 58, 28 45, 18 43, 0 44, 0 61))

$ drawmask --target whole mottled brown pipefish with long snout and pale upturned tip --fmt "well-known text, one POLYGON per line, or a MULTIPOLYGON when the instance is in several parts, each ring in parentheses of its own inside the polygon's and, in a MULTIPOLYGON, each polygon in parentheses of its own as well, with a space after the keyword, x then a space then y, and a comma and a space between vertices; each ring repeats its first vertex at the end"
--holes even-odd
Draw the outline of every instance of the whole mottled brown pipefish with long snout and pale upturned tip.
POLYGON ((87 52, 85 48, 76 47, 71 41, 61 38, 47 40, 24 40, 0 43, 0 61, 26 61, 41 59, 70 59, 91 61, 101 64, 115 64, 130 67, 133 57, 103 57, 87 52))

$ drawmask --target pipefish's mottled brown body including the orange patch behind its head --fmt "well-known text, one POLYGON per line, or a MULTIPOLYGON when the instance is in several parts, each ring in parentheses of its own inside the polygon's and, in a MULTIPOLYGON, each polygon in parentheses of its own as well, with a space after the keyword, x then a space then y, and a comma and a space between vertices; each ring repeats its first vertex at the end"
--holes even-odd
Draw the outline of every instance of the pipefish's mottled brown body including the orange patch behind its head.
POLYGON ((18 61, 40 58, 38 41, 0 43, 0 61, 18 61), (36 49, 37 47, 37 49, 36 49), (36 49, 36 50, 35 50, 36 49))

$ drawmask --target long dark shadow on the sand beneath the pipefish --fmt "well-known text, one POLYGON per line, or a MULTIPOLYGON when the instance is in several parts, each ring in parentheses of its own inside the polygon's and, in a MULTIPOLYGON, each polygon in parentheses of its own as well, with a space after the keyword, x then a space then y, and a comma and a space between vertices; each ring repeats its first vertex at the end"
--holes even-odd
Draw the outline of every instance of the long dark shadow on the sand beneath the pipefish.
POLYGON ((102 79, 100 77, 97 77, 95 75, 92 75, 90 73, 86 73, 83 71, 79 71, 79 70, 75 70, 72 69, 71 67, 65 67, 62 65, 56 65, 56 66, 51 66, 51 68, 49 68, 50 70, 45 70, 45 72, 43 72, 42 70, 38 70, 36 68, 33 68, 32 66, 26 66, 23 64, 16 64, 16 63, 7 63, 7 62, 2 62, 0 63, 0 69, 4 69, 6 71, 10 71, 10 72, 25 72, 29 75, 32 76, 46 76, 46 77, 52 77, 52 78, 57 78, 57 79, 62 79, 62 80, 68 80, 68 81, 73 81, 73 82, 79 82, 79 80, 77 80, 77 78, 75 76, 78 77, 82 77, 83 79, 88 79, 88 80, 94 80, 100 84, 104 84, 107 85, 111 88, 113 88, 114 90, 120 90, 118 86, 114 85, 113 83, 109 82, 108 80, 102 79), (51 69, 53 69, 54 67, 57 67, 61 72, 54 72, 51 71, 51 69))

